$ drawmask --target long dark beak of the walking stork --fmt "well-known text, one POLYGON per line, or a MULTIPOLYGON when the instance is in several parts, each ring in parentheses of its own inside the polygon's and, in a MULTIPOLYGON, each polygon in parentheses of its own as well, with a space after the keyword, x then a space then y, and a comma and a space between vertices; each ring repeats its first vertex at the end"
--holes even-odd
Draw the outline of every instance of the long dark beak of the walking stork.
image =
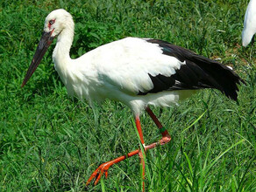
POLYGON ((40 64, 40 61, 46 54, 47 48, 52 44, 53 38, 54 38, 54 37, 51 37, 52 32, 53 31, 43 33, 42 38, 39 41, 38 48, 34 54, 34 57, 32 58, 31 65, 29 66, 29 68, 26 72, 25 79, 23 80, 21 87, 25 86, 28 79, 31 78, 32 73, 35 72, 35 70, 37 69, 37 67, 40 64))

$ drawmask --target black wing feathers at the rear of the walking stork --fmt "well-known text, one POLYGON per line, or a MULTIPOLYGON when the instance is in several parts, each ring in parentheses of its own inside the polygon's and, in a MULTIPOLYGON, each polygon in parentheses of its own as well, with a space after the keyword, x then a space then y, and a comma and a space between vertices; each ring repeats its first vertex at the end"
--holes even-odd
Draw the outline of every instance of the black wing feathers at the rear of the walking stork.
POLYGON ((171 45, 166 41, 157 39, 147 39, 146 41, 158 44, 163 54, 173 56, 181 62, 185 61, 186 65, 181 65, 181 68, 176 70, 176 73, 170 77, 163 76, 162 74, 157 76, 149 74, 153 82, 153 89, 146 93, 139 92, 140 95, 167 90, 216 88, 227 97, 237 100, 237 84, 245 84, 245 81, 240 79, 238 74, 229 67, 210 58, 197 55, 180 46, 171 45))

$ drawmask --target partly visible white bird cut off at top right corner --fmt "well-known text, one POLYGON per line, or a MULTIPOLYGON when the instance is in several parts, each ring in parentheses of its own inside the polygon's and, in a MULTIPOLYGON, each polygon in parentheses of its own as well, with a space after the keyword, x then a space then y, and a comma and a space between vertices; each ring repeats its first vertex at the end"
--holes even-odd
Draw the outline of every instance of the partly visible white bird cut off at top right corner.
POLYGON ((245 12, 244 29, 242 31, 242 45, 247 46, 252 41, 256 33, 256 0, 251 0, 245 12))

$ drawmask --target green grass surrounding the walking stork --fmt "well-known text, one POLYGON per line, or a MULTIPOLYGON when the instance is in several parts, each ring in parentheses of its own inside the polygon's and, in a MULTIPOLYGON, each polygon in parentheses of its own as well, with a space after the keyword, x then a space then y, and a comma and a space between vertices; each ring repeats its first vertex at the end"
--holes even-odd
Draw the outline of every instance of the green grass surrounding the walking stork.
MULTIPOLYGON (((160 38, 225 65, 245 79, 238 103, 204 90, 180 106, 154 108, 172 141, 146 154, 146 191, 255 191, 255 45, 241 47, 245 0, 17 0, 0 2, 0 191, 139 191, 139 158, 110 168, 87 189, 104 161, 139 147, 132 113, 107 100, 96 115, 68 99, 54 71, 52 45, 20 88, 46 15, 75 19, 72 58, 127 36, 160 38), (251 57, 250 57, 251 56, 251 57)), ((141 117, 146 143, 160 139, 141 117)))

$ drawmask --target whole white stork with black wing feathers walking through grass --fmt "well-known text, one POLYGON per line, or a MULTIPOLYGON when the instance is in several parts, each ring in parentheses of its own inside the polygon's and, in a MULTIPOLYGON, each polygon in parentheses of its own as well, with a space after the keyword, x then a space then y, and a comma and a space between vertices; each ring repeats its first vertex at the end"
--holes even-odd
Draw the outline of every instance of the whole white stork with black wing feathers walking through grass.
POLYGON ((53 10, 48 14, 42 37, 32 58, 22 87, 32 77, 54 38, 53 63, 68 95, 86 99, 89 105, 105 99, 128 106, 135 119, 139 140, 143 147, 101 164, 90 175, 86 185, 108 176, 109 168, 139 155, 145 191, 144 153, 153 147, 167 144, 171 136, 151 110, 151 106, 172 106, 187 99, 200 89, 213 88, 230 99, 238 99, 238 85, 245 84, 230 67, 193 51, 154 38, 127 37, 88 51, 72 59, 69 51, 73 43, 75 24, 67 10, 53 10), (149 114, 158 127, 161 139, 146 145, 140 125, 140 115, 149 114))

